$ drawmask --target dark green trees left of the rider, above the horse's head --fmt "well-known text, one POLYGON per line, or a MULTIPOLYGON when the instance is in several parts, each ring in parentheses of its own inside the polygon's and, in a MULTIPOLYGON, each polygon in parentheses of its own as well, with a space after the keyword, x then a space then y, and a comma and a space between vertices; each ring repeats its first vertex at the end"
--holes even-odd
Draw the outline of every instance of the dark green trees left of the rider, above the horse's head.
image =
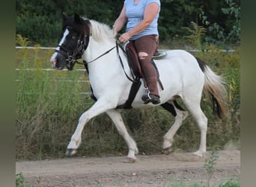
MULTIPOLYGON (((16 34, 28 37, 32 43, 55 46, 61 35, 62 13, 79 13, 89 19, 112 24, 112 17, 121 10, 123 1, 16 1, 16 34), (108 8, 106 8, 108 7, 108 8)), ((117 16, 117 15, 116 15, 117 16)))

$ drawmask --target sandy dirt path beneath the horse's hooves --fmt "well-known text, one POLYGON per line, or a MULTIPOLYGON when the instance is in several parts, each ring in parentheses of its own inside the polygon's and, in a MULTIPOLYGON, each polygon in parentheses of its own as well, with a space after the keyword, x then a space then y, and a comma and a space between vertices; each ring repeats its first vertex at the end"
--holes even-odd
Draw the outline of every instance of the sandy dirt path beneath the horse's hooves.
MULTIPOLYGON (((209 154, 207 154, 209 156, 209 154)), ((16 162, 31 186, 170 186, 171 183, 207 184, 204 161, 191 153, 137 156, 137 162, 124 163, 124 156, 67 158, 16 162)), ((219 151, 211 184, 240 177, 240 151, 219 151)))

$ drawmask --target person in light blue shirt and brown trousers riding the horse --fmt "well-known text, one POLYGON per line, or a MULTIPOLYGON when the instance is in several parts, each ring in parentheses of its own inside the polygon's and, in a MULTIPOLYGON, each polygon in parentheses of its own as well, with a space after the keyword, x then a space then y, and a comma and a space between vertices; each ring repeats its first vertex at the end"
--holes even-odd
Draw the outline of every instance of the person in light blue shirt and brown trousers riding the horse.
POLYGON ((119 40, 123 43, 134 43, 141 62, 144 79, 147 82, 149 93, 142 96, 144 103, 160 103, 157 87, 156 70, 151 64, 151 58, 158 46, 157 21, 160 12, 160 0, 124 0, 124 6, 114 24, 114 36, 127 23, 127 29, 119 40))

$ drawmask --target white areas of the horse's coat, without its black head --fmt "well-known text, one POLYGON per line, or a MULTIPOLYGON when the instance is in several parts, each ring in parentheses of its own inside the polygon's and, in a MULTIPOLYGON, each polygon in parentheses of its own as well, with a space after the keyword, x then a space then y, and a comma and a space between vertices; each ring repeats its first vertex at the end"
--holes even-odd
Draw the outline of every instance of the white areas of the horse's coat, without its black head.
MULTIPOLYGON (((124 63, 124 69, 121 67, 118 52, 113 49, 106 55, 98 58, 104 52, 115 46, 115 39, 112 37, 112 30, 108 26, 103 25, 94 20, 91 22, 91 37, 88 43, 88 48, 82 55, 83 60, 88 62, 88 73, 91 82, 91 87, 94 91, 94 96, 97 97, 97 102, 79 118, 79 123, 74 132, 70 144, 67 146, 67 153, 73 155, 79 144, 81 144, 82 129, 88 120, 96 117, 103 112, 109 115, 113 123, 118 129, 120 135, 127 142, 129 153, 127 155, 129 162, 135 161, 135 154, 138 153, 138 148, 135 141, 130 137, 124 122, 116 107, 124 104, 127 101, 129 90, 132 82, 127 79, 124 71, 131 78, 131 72, 127 64, 127 58, 124 52, 119 50, 119 55, 124 63), (94 59, 98 58, 94 61, 94 59), (93 61, 93 62, 91 62, 93 61), (91 63, 90 63, 91 62, 91 63)), ((52 55, 55 58, 56 54, 52 55)), ((52 64, 55 60, 52 59, 52 64)), ((219 90, 225 92, 222 87, 222 79, 217 76, 209 67, 205 66, 205 72, 201 70, 197 59, 189 52, 183 50, 168 50, 167 56, 161 60, 154 60, 156 67, 159 70, 159 79, 162 82, 164 90, 159 86, 159 95, 161 104, 172 102, 177 96, 183 99, 186 108, 192 112, 192 116, 197 121, 201 129, 201 143, 198 151, 195 152, 198 156, 203 156, 206 152, 206 135, 207 135, 207 117, 201 111, 200 102, 201 94, 204 85, 220 87, 219 90), (207 74, 207 75, 206 75, 207 74), (207 79, 205 79, 207 77, 207 79), (211 83, 209 83, 209 80, 211 83), (205 82, 207 81, 207 82, 205 82)), ((144 104, 141 96, 144 95, 143 80, 138 93, 132 102, 133 108, 143 108, 153 106, 153 104, 144 104)), ((219 93, 222 94, 222 93, 219 93)), ((215 96, 215 95, 214 95, 215 96)), ((159 105, 161 105, 159 104, 159 105)), ((171 129, 164 136, 163 148, 169 150, 174 140, 174 135, 179 129, 187 112, 175 108, 177 116, 171 129)))

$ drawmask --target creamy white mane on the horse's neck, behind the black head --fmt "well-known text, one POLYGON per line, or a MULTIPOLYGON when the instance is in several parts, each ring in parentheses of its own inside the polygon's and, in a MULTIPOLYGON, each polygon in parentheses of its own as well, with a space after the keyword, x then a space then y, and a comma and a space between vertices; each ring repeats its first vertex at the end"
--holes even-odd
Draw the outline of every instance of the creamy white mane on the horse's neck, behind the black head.
POLYGON ((109 27, 109 25, 97 22, 92 19, 90 19, 89 21, 91 22, 91 37, 93 37, 94 40, 100 41, 109 39, 115 41, 113 31, 109 27))

